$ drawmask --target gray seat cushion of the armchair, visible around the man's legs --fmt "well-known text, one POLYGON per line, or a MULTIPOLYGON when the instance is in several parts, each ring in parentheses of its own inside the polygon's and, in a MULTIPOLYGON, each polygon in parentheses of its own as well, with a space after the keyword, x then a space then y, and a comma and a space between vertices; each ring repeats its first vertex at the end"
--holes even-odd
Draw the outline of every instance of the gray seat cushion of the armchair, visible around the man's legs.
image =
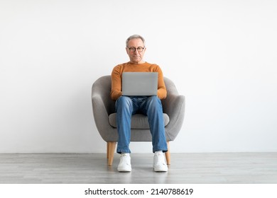
MULTIPOLYGON (((165 126, 169 123, 169 117, 167 114, 163 114, 163 121, 165 126)), ((116 112, 109 115, 109 124, 116 128, 116 112)), ((149 124, 146 115, 135 114, 132 116, 131 129, 149 129, 149 124)))

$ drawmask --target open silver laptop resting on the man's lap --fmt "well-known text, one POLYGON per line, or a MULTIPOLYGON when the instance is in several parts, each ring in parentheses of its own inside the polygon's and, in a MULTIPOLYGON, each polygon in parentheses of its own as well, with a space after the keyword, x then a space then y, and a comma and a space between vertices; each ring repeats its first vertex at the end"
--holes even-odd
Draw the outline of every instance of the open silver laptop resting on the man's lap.
POLYGON ((122 95, 157 95, 158 72, 123 72, 122 95))

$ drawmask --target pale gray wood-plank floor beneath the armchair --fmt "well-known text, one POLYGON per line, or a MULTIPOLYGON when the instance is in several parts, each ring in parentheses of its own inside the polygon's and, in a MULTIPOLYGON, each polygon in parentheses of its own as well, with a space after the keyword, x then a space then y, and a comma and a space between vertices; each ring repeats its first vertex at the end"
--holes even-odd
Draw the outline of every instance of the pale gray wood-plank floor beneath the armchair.
POLYGON ((118 173, 104 153, 0 154, 0 183, 276 184, 277 153, 172 153, 168 173, 155 173, 152 153, 132 153, 131 173, 118 173))

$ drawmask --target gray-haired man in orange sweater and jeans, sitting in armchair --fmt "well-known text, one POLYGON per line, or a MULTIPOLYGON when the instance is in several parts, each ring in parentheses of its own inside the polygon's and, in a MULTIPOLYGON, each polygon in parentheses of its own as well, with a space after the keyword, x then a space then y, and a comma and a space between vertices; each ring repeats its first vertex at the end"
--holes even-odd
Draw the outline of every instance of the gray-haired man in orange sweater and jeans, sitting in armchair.
POLYGON ((112 100, 116 100, 116 124, 119 134, 117 153, 121 154, 117 170, 119 172, 131 171, 130 137, 131 116, 136 112, 147 115, 152 135, 153 168, 156 172, 168 171, 164 152, 168 151, 163 123, 163 107, 161 100, 166 97, 163 72, 157 64, 143 61, 146 52, 145 40, 140 35, 132 35, 126 40, 126 52, 130 62, 119 64, 112 71, 112 100), (158 72, 157 96, 124 96, 121 92, 121 76, 123 72, 158 72))

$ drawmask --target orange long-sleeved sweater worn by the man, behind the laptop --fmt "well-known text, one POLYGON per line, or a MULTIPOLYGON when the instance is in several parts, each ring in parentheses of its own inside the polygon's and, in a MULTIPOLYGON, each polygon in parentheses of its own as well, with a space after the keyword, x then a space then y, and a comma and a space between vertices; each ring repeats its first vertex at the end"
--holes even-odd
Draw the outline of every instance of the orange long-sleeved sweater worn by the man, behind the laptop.
POLYGON ((122 95, 121 92, 121 78, 123 72, 158 72, 158 98, 164 99, 166 98, 166 88, 165 83, 163 81, 163 72, 161 68, 157 64, 149 64, 145 62, 143 64, 133 64, 131 62, 127 62, 124 64, 119 64, 114 67, 112 71, 112 91, 111 98, 112 100, 117 100, 122 95))

